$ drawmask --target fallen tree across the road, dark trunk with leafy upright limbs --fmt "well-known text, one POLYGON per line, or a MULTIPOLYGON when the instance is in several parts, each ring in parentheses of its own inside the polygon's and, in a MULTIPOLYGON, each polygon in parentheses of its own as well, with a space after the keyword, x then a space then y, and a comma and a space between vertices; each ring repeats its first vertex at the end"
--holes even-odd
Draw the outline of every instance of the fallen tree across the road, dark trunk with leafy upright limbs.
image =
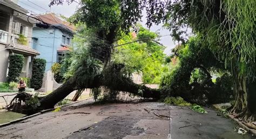
MULTIPOLYGON (((62 4, 62 1, 52 1, 51 4, 62 4)), ((62 86, 40 100, 39 109, 52 108, 77 89, 100 86, 142 98, 159 98, 156 89, 134 84, 122 72, 122 65, 110 62, 113 43, 120 34, 130 32, 130 27, 142 17, 142 7, 143 2, 138 1, 81 1, 80 8, 70 20, 86 25, 87 42, 80 47, 81 51, 73 55, 69 68, 72 75, 62 86)))

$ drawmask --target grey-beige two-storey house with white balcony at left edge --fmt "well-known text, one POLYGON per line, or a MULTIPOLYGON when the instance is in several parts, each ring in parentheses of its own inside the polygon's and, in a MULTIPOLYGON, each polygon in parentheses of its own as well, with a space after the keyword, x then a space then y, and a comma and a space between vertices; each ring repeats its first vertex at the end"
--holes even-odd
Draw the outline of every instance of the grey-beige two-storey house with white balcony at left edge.
POLYGON ((31 76, 31 61, 39 52, 31 48, 33 24, 27 10, 10 0, 0 0, 0 82, 6 81, 10 54, 24 55, 21 77, 31 76), (23 43, 19 43, 21 39, 23 43))

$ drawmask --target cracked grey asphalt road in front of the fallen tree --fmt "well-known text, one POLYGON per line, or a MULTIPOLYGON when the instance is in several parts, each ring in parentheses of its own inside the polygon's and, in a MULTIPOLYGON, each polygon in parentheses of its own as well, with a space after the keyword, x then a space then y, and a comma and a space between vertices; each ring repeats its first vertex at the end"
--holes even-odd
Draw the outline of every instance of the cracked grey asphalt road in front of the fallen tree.
POLYGON ((0 138, 254 138, 237 134, 238 125, 212 109, 199 114, 159 102, 90 102, 0 128, 0 138))

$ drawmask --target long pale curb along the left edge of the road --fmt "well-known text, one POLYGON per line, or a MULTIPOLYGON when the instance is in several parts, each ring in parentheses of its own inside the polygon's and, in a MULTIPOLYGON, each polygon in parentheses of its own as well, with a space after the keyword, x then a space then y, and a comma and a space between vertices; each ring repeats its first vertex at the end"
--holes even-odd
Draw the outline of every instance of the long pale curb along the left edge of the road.
POLYGON ((37 115, 39 115, 39 114, 43 114, 43 113, 50 112, 50 111, 55 110, 56 108, 59 108, 59 107, 61 108, 61 107, 64 107, 64 106, 69 106, 69 105, 72 105, 72 104, 74 104, 74 103, 78 103, 78 102, 81 102, 81 101, 89 100, 89 99, 92 99, 92 98, 93 98, 93 97, 90 97, 90 98, 87 98, 87 99, 84 99, 84 100, 79 100, 79 101, 71 102, 71 103, 68 103, 68 104, 65 104, 65 105, 62 105, 62 106, 58 106, 58 107, 55 107, 55 108, 52 108, 52 109, 44 109, 44 110, 39 111, 39 112, 36 113, 36 114, 32 114, 32 115, 29 115, 29 116, 25 116, 25 117, 22 117, 22 118, 20 118, 20 119, 12 120, 12 121, 10 121, 10 122, 2 123, 2 124, 0 124, 0 128, 5 127, 5 126, 9 126, 10 124, 14 124, 14 123, 21 122, 21 121, 23 121, 23 120, 25 120, 25 119, 29 119, 29 118, 34 117, 34 116, 37 116, 37 115))

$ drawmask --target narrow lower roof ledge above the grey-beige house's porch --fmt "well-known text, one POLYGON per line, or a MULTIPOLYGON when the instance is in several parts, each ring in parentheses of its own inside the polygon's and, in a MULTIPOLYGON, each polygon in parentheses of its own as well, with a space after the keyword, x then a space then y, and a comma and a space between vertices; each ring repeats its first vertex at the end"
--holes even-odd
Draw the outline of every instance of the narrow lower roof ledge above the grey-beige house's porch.
POLYGON ((25 46, 25 45, 21 45, 21 44, 17 44, 17 43, 15 43, 15 46, 11 45, 11 46, 6 46, 6 47, 11 51, 17 51, 19 53, 23 53, 26 55, 39 55, 40 54, 38 51, 33 50, 29 46, 25 46))

